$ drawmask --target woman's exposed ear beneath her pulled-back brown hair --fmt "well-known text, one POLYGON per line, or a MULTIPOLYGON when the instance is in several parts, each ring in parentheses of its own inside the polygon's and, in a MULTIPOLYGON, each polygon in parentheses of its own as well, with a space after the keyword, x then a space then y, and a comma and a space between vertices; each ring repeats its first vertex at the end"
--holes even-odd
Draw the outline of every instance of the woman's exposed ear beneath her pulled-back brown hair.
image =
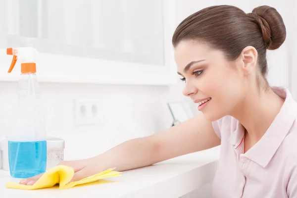
POLYGON ((258 52, 254 47, 247 46, 241 52, 241 61, 243 62, 243 72, 245 75, 253 73, 256 69, 258 52))

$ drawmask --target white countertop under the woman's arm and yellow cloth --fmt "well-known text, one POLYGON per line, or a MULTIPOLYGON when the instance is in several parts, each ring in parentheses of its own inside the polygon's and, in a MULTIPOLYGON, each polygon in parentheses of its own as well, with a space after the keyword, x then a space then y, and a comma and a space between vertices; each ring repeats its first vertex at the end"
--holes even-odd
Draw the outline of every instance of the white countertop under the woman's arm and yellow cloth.
POLYGON ((18 182, 19 179, 11 178, 8 171, 0 170, 0 198, 179 198, 213 180, 219 149, 210 148, 152 166, 124 171, 122 176, 101 180, 100 184, 68 190, 7 189, 7 181, 18 182))

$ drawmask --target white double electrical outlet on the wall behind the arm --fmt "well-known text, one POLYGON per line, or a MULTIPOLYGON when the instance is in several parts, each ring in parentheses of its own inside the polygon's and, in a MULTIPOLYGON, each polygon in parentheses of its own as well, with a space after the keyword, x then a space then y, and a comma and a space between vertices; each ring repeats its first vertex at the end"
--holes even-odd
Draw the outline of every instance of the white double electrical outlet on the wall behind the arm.
POLYGON ((74 121, 76 125, 99 123, 99 102, 88 99, 74 100, 74 121))

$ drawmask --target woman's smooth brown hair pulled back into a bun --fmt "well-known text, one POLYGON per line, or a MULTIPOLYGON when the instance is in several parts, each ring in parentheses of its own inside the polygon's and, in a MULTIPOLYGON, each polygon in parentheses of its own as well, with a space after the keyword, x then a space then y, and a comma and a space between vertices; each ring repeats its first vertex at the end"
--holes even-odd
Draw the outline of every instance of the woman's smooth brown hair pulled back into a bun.
POLYGON ((228 60, 235 60, 244 48, 252 46, 266 80, 266 49, 278 49, 285 39, 286 27, 275 8, 263 5, 246 14, 235 6, 217 5, 184 19, 174 32, 172 44, 176 47, 183 40, 198 40, 222 50, 228 60))

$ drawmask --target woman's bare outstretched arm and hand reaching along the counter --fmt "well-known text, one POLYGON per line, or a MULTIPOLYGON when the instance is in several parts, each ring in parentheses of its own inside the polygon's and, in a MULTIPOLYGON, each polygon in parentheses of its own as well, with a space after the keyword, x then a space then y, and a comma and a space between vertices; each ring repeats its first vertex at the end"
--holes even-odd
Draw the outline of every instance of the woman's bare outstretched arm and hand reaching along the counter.
MULTIPOLYGON (((220 139, 211 122, 205 120, 203 114, 198 114, 177 126, 152 136, 126 141, 93 158, 63 161, 61 164, 72 166, 75 170, 72 181, 78 181, 111 167, 116 167, 117 171, 140 168, 218 145, 220 139)), ((21 183, 31 185, 39 177, 21 183)))

